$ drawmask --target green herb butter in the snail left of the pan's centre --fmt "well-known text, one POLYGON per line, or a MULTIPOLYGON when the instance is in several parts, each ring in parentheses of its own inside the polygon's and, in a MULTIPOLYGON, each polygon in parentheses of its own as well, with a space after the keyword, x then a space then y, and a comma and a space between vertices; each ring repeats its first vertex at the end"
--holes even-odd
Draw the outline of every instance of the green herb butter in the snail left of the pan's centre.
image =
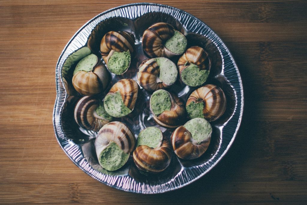
POLYGON ((104 98, 104 108, 107 113, 113 117, 123 117, 131 112, 131 110, 125 106, 119 91, 106 95, 104 98))

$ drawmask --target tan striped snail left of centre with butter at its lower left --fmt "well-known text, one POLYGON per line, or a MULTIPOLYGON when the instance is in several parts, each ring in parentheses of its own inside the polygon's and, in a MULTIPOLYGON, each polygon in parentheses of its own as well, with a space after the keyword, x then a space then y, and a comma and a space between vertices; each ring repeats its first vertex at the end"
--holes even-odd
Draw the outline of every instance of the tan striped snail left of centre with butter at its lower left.
POLYGON ((107 93, 104 101, 104 108, 106 109, 107 113, 113 117, 122 117, 128 114, 121 113, 121 109, 119 108, 115 112, 110 112, 110 106, 114 105, 116 102, 107 102, 107 99, 112 94, 116 94, 119 92, 123 105, 130 109, 130 112, 134 109, 135 102, 138 98, 138 83, 132 79, 122 79, 119 82, 115 83, 109 93, 107 93))

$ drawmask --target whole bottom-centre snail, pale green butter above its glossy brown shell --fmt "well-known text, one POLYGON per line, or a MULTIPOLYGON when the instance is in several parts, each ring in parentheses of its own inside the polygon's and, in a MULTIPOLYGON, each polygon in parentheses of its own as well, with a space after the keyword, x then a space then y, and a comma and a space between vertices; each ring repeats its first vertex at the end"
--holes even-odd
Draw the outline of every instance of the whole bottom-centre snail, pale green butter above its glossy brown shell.
POLYGON ((163 138, 161 130, 157 127, 147 127, 137 138, 133 160, 138 169, 159 173, 165 170, 172 158, 172 146, 163 138))

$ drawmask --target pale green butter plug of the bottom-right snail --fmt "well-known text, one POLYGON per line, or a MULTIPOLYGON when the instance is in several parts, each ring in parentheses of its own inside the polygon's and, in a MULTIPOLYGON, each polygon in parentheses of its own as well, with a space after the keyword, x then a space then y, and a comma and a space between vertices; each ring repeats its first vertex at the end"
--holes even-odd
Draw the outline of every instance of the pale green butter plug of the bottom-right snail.
POLYGON ((210 123, 203 118, 194 118, 189 120, 185 127, 192 135, 192 138, 199 144, 202 141, 209 139, 212 133, 210 123))

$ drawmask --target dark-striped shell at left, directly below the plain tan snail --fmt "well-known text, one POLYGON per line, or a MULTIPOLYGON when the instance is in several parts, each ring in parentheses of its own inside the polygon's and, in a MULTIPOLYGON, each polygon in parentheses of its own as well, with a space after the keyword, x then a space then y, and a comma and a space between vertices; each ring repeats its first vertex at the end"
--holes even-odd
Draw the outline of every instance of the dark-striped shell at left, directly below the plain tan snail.
MULTIPOLYGON (((99 116, 96 109, 100 101, 93 96, 84 96, 77 102, 74 110, 76 123, 85 129, 98 131, 103 125, 112 120, 111 116, 99 116)), ((103 105, 101 105, 103 107, 103 105)), ((106 114, 106 113, 105 113, 106 114)), ((107 114, 106 114, 107 115, 107 114)))

